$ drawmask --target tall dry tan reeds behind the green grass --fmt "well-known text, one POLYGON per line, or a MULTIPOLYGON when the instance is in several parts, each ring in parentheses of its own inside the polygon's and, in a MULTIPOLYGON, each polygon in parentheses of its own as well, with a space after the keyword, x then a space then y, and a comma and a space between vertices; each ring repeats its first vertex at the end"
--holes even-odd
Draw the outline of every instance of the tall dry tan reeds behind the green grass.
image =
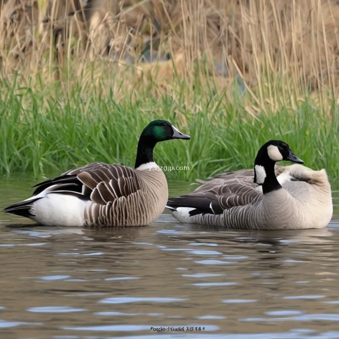
POLYGON ((123 79, 118 98, 175 95, 181 79, 187 100, 197 79, 229 96, 238 82, 251 115, 293 110, 338 98, 338 17, 335 0, 2 0, 0 76, 103 94, 123 79))

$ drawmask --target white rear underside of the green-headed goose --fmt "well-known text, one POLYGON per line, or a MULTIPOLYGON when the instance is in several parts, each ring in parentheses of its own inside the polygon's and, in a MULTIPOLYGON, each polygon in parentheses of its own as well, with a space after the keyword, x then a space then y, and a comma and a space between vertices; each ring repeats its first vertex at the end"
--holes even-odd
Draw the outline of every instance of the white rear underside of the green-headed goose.
POLYGON ((30 218, 46 226, 84 226, 84 210, 91 201, 76 195, 51 192, 54 185, 24 201, 40 198, 32 203, 30 218))

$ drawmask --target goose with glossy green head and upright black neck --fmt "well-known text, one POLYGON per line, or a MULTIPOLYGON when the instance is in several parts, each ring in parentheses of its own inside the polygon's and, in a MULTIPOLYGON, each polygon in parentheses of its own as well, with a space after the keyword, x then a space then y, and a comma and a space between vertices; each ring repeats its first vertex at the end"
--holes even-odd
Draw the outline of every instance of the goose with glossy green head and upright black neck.
POLYGON ((91 163, 36 184, 32 197, 4 209, 47 226, 144 226, 165 209, 168 186, 153 160, 160 141, 190 139, 165 120, 142 132, 135 168, 91 163))

